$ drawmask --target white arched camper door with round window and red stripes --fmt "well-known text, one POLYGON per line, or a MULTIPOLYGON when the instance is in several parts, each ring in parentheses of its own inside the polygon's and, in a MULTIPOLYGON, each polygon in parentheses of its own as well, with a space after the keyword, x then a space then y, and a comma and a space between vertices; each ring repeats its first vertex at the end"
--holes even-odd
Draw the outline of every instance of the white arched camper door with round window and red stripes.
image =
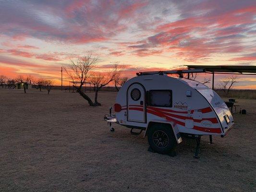
POLYGON ((135 83, 127 90, 127 120, 146 123, 145 88, 135 83))

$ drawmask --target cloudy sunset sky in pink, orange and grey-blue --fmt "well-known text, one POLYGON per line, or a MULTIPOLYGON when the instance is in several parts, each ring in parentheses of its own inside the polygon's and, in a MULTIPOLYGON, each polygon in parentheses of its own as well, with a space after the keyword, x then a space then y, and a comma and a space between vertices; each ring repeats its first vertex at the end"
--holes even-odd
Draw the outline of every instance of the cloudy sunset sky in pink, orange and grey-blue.
MULTIPOLYGON (((102 71, 120 61, 129 77, 185 64, 256 65, 256 0, 0 0, 0 74, 60 84, 61 66, 88 51, 102 71)), ((238 78, 236 88, 256 89, 256 76, 238 78)))

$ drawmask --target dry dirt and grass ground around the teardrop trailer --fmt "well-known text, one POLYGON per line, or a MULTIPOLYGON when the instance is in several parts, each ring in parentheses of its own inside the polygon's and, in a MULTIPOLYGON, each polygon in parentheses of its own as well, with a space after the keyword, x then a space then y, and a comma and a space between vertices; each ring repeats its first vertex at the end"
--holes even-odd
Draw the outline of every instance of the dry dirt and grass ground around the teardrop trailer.
POLYGON ((0 89, 0 191, 255 192, 256 100, 238 99, 225 138, 183 139, 177 156, 147 151, 147 138, 103 120, 116 93, 89 107, 77 93, 0 89))

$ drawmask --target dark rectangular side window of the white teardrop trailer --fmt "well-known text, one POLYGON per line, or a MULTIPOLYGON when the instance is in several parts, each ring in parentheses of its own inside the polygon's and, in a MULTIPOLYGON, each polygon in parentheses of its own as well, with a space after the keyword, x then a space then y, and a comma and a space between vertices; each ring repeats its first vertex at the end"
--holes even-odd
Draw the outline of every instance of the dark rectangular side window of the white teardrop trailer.
POLYGON ((172 107, 172 91, 171 90, 150 90, 149 106, 172 107))

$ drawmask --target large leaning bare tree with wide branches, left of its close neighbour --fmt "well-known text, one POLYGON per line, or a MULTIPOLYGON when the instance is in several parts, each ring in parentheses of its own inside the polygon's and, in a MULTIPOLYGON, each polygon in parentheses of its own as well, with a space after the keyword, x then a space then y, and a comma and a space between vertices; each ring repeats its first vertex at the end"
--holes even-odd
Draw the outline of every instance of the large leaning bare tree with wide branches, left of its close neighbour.
POLYGON ((90 71, 95 68, 98 62, 98 56, 93 56, 92 53, 88 53, 84 57, 70 59, 69 67, 64 67, 65 72, 73 82, 73 87, 77 90, 80 96, 88 101, 90 106, 96 106, 96 104, 93 103, 90 97, 82 91, 82 86, 85 84, 85 82, 88 81, 90 77, 90 71), (76 85, 76 83, 79 85, 76 85))

